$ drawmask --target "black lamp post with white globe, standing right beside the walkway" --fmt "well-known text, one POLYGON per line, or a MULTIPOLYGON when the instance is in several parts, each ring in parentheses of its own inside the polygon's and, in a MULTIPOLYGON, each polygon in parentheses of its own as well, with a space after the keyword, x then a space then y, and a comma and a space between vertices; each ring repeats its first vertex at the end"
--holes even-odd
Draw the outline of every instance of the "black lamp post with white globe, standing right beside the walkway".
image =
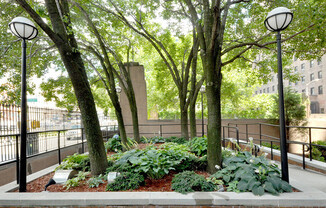
POLYGON ((284 95, 283 95, 283 72, 282 72, 282 54, 281 54, 281 33, 286 29, 293 19, 293 13, 285 8, 278 7, 270 11, 265 20, 265 26, 268 30, 277 32, 277 66, 278 66, 278 96, 279 96, 279 114, 280 114, 280 140, 281 140, 281 167, 282 179, 289 182, 288 156, 286 149, 286 129, 284 115, 284 95))

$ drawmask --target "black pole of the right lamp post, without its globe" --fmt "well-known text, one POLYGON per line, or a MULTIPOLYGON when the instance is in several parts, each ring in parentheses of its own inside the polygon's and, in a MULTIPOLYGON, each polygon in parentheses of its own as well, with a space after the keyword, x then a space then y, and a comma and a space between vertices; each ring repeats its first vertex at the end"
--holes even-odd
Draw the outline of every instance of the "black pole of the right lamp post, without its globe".
POLYGON ((277 31, 277 66, 278 66, 278 96, 279 96, 279 114, 280 114, 280 139, 281 139, 281 168, 282 180, 289 182, 288 155, 286 143, 285 114, 284 114, 284 94, 283 94, 283 72, 282 72, 282 51, 281 51, 281 33, 277 31))

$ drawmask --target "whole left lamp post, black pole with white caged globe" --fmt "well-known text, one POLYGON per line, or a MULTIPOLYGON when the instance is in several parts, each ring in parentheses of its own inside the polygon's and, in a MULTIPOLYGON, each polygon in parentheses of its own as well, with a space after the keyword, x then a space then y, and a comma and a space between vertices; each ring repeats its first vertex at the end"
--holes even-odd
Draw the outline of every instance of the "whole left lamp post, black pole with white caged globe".
POLYGON ((9 28, 15 36, 22 39, 19 192, 26 192, 26 40, 34 39, 38 30, 32 21, 24 17, 14 18, 9 23, 9 28))

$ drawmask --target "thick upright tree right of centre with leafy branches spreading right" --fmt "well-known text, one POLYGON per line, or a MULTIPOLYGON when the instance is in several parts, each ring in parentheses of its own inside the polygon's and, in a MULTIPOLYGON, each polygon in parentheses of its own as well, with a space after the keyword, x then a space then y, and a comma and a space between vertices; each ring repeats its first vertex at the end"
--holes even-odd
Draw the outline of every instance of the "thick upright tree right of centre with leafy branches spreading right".
MULTIPOLYGON (((196 25, 196 32, 200 42, 200 56, 206 76, 208 108, 208 171, 215 172, 214 166, 216 164, 221 165, 222 162, 222 68, 235 61, 252 61, 252 59, 255 59, 260 53, 275 53, 272 47, 275 47, 275 37, 273 37, 270 32, 266 33, 263 22, 266 13, 276 6, 291 8, 295 13, 297 12, 297 14, 303 17, 299 17, 300 21, 294 21, 293 24, 283 32, 286 37, 283 39, 283 42, 289 41, 289 44, 284 44, 284 51, 293 52, 294 49, 297 49, 296 52, 298 54, 303 54, 300 49, 304 49, 304 45, 306 45, 307 42, 313 45, 311 45, 311 48, 316 47, 316 50, 323 48, 325 36, 321 33, 325 32, 325 28, 322 26, 325 22, 325 19, 323 19, 325 13, 322 14, 322 11, 326 3, 322 1, 302 0, 291 2, 283 0, 180 0, 179 3, 184 3, 188 14, 191 15, 192 22, 196 25), (305 16, 305 14, 307 16, 305 16), (308 30, 309 33, 306 32, 308 30), (304 35, 301 36, 300 34, 304 35), (299 38, 301 39, 305 36, 307 36, 307 39, 305 39, 307 42, 299 41, 299 38), (266 50, 255 50, 259 48, 266 50), (239 60, 240 58, 241 60, 239 60)), ((306 47, 305 49, 308 48, 306 47)), ((313 51, 311 52, 313 54, 313 51)), ((258 70, 264 69, 266 68, 258 68, 258 70)))

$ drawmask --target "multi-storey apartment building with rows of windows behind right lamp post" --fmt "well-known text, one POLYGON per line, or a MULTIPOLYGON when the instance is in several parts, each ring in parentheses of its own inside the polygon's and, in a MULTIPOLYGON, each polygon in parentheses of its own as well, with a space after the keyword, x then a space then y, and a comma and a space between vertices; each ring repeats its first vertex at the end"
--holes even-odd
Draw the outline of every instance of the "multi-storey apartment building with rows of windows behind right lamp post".
MULTIPOLYGON (((311 114, 326 113, 326 55, 316 60, 300 60, 294 57, 292 66, 293 73, 300 76, 300 80, 291 83, 289 80, 283 80, 284 87, 291 87, 296 92, 303 93, 310 100, 311 114)), ((257 88, 256 94, 277 93, 277 74, 274 74, 272 80, 260 88, 257 88)))

